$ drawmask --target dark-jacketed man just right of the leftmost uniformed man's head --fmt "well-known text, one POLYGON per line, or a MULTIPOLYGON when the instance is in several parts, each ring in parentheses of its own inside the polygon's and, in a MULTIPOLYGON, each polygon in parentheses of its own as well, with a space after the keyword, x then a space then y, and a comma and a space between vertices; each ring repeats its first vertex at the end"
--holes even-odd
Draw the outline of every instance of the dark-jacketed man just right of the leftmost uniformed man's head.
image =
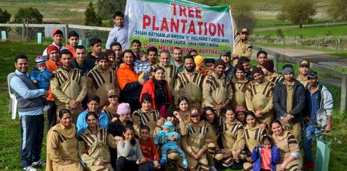
POLYGON ((87 76, 87 73, 93 68, 93 66, 89 66, 89 64, 86 62, 86 48, 83 45, 78 45, 74 51, 75 59, 72 61, 72 67, 80 69, 82 76, 87 76))

